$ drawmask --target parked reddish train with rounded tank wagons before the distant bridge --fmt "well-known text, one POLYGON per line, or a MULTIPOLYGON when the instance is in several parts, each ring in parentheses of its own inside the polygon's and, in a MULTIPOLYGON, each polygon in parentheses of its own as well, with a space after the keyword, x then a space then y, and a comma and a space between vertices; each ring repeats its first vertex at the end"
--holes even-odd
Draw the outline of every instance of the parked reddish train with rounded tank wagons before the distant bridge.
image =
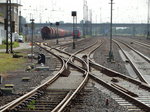
MULTIPOLYGON (((58 38, 72 36, 72 35, 74 34, 71 31, 58 28, 58 38)), ((76 30, 76 37, 80 38, 80 35, 81 35, 80 31, 76 30)), ((41 29, 41 36, 43 40, 55 39, 57 38, 57 28, 44 26, 41 29)))

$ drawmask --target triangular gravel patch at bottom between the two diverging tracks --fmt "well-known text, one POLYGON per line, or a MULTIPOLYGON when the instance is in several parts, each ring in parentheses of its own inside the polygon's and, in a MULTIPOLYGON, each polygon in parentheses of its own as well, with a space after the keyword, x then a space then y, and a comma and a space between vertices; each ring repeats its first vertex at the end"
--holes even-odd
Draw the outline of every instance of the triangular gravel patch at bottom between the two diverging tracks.
POLYGON ((127 112, 126 108, 96 87, 90 88, 90 92, 82 90, 77 97, 66 112, 127 112))

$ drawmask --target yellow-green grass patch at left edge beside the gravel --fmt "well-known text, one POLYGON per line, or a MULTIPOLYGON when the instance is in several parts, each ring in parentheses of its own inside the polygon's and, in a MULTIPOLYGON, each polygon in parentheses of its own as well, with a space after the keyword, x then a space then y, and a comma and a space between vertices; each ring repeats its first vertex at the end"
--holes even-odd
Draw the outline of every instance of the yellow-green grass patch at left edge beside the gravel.
MULTIPOLYGON (((22 54, 19 53, 19 55, 22 54)), ((12 54, 0 53, 0 73, 21 69, 24 67, 23 63, 25 62, 25 58, 12 58, 12 54)))

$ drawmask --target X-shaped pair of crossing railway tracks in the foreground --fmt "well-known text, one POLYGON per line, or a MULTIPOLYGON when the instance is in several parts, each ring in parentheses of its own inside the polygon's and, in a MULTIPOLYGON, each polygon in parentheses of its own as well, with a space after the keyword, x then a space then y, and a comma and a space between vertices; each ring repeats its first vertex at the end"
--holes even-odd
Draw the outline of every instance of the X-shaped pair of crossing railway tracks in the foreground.
MULTIPOLYGON (((38 91, 38 95, 36 94, 37 91, 34 92, 34 95, 33 94, 29 95, 29 93, 28 93, 28 95, 30 97, 27 98, 27 96, 26 96, 25 98, 22 98, 22 101, 19 102, 20 105, 18 105, 19 100, 16 102, 12 102, 9 105, 7 105, 3 109, 3 111, 11 111, 11 110, 18 109, 20 111, 32 112, 34 110, 29 110, 29 109, 26 110, 27 108, 23 108, 23 107, 30 107, 30 102, 31 102, 31 108, 32 108, 32 103, 33 103, 33 108, 36 107, 36 109, 37 109, 36 111, 38 111, 38 110, 45 111, 45 109, 47 109, 47 110, 51 110, 54 112, 55 111, 61 112, 61 111, 65 110, 66 106, 71 102, 71 100, 73 98, 75 98, 78 91, 80 91, 84 87, 84 85, 86 84, 86 82, 88 80, 88 75, 89 75, 91 78, 90 81, 94 80, 94 83, 98 83, 101 86, 103 86, 103 89, 102 89, 103 91, 111 92, 113 94, 112 97, 120 105, 126 106, 129 110, 148 112, 148 110, 150 109, 150 104, 148 102, 150 100, 150 98, 149 98, 150 87, 144 83, 141 83, 130 77, 124 76, 123 74, 112 71, 108 68, 105 68, 105 67, 98 65, 98 64, 94 63, 93 61, 91 61, 89 58, 91 53, 89 53, 89 52, 94 52, 94 49, 96 49, 97 47, 100 46, 98 44, 94 46, 94 44, 90 46, 90 47, 93 46, 93 48, 89 47, 92 50, 87 50, 87 52, 85 53, 85 50, 88 49, 88 47, 87 47, 87 48, 82 49, 72 55, 67 52, 61 51, 59 49, 56 49, 56 48, 52 49, 52 48, 49 48, 46 46, 45 50, 51 51, 51 53, 55 53, 55 55, 62 57, 62 60, 64 60, 65 64, 63 64, 63 66, 64 66, 63 69, 65 69, 67 71, 65 71, 65 72, 61 71, 60 74, 61 74, 61 76, 63 76, 63 78, 66 73, 68 73, 69 76, 72 76, 71 74, 74 74, 74 72, 76 70, 78 70, 78 73, 75 73, 75 74, 78 74, 80 77, 79 79, 82 79, 82 81, 80 81, 80 83, 78 83, 78 86, 76 85, 76 87, 75 87, 76 89, 71 88, 68 90, 68 88, 67 88, 67 89, 63 89, 63 91, 61 91, 60 87, 56 90, 56 86, 55 86, 56 83, 52 83, 52 85, 49 85, 50 83, 48 83, 48 84, 46 84, 46 87, 45 87, 46 91, 44 90, 44 92, 43 92, 42 91, 43 89, 40 89, 40 91, 38 91), (84 54, 81 53, 82 51, 84 52, 84 54), (81 53, 82 55, 79 55, 78 53, 81 53), (86 56, 86 57, 84 58, 83 56, 86 56), (78 64, 81 62, 82 62, 82 64, 78 64), (76 66, 76 65, 78 65, 78 66, 76 66), (71 73, 69 73, 68 70, 71 73), (90 71, 90 73, 89 73, 89 71, 90 71), (136 91, 133 91, 133 88, 136 91), (58 92, 58 90, 59 90, 59 92, 58 92), (52 91, 54 92, 54 96, 52 95, 52 93, 53 93, 52 91), (58 93, 62 93, 61 94, 62 97, 58 97, 60 95, 58 93), (45 100, 46 98, 52 99, 51 97, 49 97, 49 95, 48 95, 48 97, 45 96, 47 94, 50 94, 50 96, 52 96, 54 98, 55 97, 57 97, 58 99, 60 98, 60 101, 59 100, 57 102, 52 101, 51 103, 46 102, 46 100, 45 100), (39 99, 35 99, 36 97, 39 97, 39 99), (37 102, 37 104, 36 103, 34 104, 33 99, 35 100, 35 102, 37 102), (53 105, 54 107, 49 107, 47 105, 53 105), (20 106, 22 106, 22 107, 20 107, 20 106), (40 108, 38 108, 38 107, 40 107, 40 108)), ((72 80, 73 78, 74 77, 70 77, 70 80, 72 80)), ((56 81, 61 82, 59 80, 56 80, 56 81)), ((67 81, 68 81, 68 79, 67 79, 67 81)), ((60 84, 62 84, 62 83, 58 83, 58 85, 60 85, 60 84)))

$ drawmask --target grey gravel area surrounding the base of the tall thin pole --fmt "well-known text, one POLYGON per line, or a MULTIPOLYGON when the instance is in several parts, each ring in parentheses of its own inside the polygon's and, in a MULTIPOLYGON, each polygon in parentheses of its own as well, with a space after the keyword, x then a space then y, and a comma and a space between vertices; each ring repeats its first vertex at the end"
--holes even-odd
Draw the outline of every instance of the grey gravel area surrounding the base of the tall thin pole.
POLYGON ((119 54, 119 48, 116 44, 112 44, 112 51, 114 55, 114 62, 107 61, 107 58, 109 57, 109 38, 105 38, 105 42, 102 44, 101 47, 99 47, 95 53, 94 53, 94 60, 96 63, 99 63, 105 67, 108 67, 112 70, 115 70, 117 72, 123 73, 125 75, 129 75, 128 71, 125 68, 125 62, 122 60, 119 54))

